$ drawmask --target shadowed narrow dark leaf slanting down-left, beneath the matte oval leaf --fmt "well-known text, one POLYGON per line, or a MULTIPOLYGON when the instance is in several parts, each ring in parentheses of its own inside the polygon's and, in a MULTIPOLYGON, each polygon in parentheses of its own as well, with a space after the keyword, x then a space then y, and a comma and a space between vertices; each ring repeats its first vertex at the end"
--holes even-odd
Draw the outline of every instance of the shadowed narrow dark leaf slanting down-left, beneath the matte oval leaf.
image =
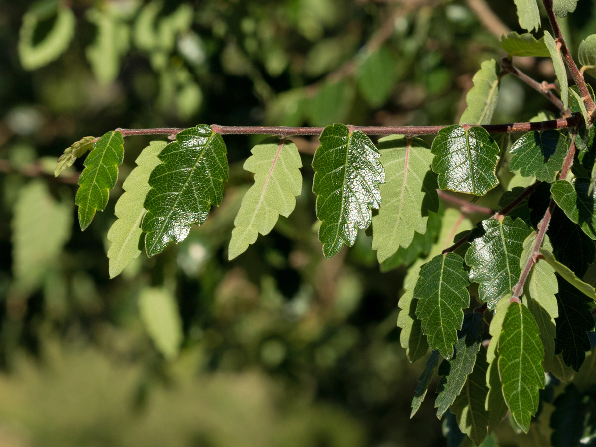
POLYGON ((460 331, 455 356, 451 360, 443 360, 439 366, 439 375, 442 375, 437 386, 437 398, 434 406, 437 408, 437 418, 455 402, 460 395, 468 375, 474 369, 476 354, 480 350, 484 322, 482 314, 468 313, 460 331))

